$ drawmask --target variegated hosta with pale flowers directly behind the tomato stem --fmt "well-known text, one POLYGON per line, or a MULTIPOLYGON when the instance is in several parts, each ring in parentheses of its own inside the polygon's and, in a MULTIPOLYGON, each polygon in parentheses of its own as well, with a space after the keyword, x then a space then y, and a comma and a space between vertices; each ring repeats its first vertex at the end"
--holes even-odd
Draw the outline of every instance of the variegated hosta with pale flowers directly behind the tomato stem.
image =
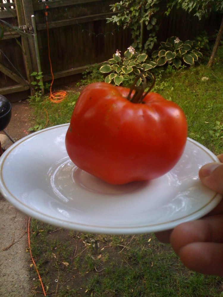
MULTIPOLYGON (((106 83, 114 82, 119 86, 123 80, 127 77, 132 77, 132 75, 143 75, 149 79, 153 79, 150 69, 156 67, 156 62, 150 61, 147 62, 147 54, 145 53, 136 53, 135 49, 130 46, 128 50, 125 51, 124 57, 121 57, 120 51, 117 50, 113 55, 112 59, 109 59, 106 62, 102 63, 100 67, 100 72, 109 73, 106 78, 106 83)), ((139 78, 136 85, 139 86, 142 82, 142 78, 139 78)))

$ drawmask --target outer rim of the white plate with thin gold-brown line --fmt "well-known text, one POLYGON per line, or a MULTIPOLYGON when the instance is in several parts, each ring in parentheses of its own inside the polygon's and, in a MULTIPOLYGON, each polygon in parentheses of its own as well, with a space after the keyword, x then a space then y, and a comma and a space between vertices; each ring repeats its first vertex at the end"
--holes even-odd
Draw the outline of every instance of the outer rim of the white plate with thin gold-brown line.
MULTIPOLYGON (((189 220, 193 220, 193 219, 198 219, 202 216, 204 216, 205 214, 207 214, 209 211, 211 211, 215 206, 217 206, 219 204, 219 202, 222 200, 222 195, 213 192, 213 197, 205 204, 203 205, 200 209, 186 215, 183 216, 181 218, 178 219, 174 219, 174 220, 170 220, 168 222, 162 222, 162 223, 156 223, 156 224, 149 224, 149 225, 143 225, 143 226, 99 226, 99 225, 89 225, 89 224, 83 224, 83 223, 78 223, 78 222, 70 222, 68 220, 65 219, 59 219, 56 218, 55 216, 50 216, 50 215, 46 215, 43 214, 40 211, 34 210, 33 208, 27 206, 25 203, 22 203, 21 200, 19 200, 16 196, 14 196, 10 190, 7 188, 7 186, 4 183, 4 177, 3 177, 3 166, 4 166, 4 161, 7 159, 7 156, 17 147, 19 146, 21 143, 25 142, 27 139, 30 139, 32 137, 35 137, 36 135, 46 132, 48 130, 51 129, 57 129, 57 128, 61 128, 61 127, 65 127, 65 126, 69 126, 70 123, 66 123, 66 124, 60 124, 60 125, 56 125, 56 126, 52 126, 52 127, 48 127, 45 129, 42 129, 40 131, 36 131, 32 134, 29 134, 23 138, 21 138, 20 140, 18 140, 16 143, 12 144, 12 146, 9 147, 9 149, 7 149, 7 151, 4 152, 4 154, 2 154, 1 158, 0 158, 0 192, 3 195, 3 197, 9 201, 15 208, 19 209, 20 211, 22 211, 25 214, 29 214, 29 216, 44 221, 48 224, 51 225, 56 225, 56 226, 60 226, 62 228, 66 228, 66 229, 72 229, 72 230, 79 230, 82 232, 93 232, 93 233, 103 233, 103 234, 138 234, 138 233, 151 233, 151 232, 159 232, 162 230, 168 230, 171 228, 175 227, 174 222, 184 222, 184 221, 189 221, 189 220), (209 207, 208 207, 209 206, 209 207), (200 212, 204 209, 207 208, 206 212, 203 213, 202 215, 200 214, 200 212), (187 219, 186 219, 187 218, 187 219), (161 228, 162 227, 162 228, 161 228), (86 230, 87 228, 87 230, 86 230), (120 232, 122 231, 122 232, 120 232)), ((197 142, 196 140, 193 140, 189 137, 187 137, 187 141, 195 144, 196 146, 200 147, 202 150, 205 151, 205 153, 207 153, 212 159, 213 162, 219 162, 219 159, 216 157, 216 155, 214 155, 209 149, 207 149, 205 146, 203 146, 201 143, 197 142)))

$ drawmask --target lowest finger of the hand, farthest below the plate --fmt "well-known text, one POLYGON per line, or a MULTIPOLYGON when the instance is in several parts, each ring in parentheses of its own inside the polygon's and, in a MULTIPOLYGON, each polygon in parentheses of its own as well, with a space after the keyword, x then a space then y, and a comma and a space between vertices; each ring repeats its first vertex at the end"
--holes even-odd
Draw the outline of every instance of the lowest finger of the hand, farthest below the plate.
POLYGON ((223 244, 194 242, 182 247, 179 256, 191 270, 223 277, 223 244))

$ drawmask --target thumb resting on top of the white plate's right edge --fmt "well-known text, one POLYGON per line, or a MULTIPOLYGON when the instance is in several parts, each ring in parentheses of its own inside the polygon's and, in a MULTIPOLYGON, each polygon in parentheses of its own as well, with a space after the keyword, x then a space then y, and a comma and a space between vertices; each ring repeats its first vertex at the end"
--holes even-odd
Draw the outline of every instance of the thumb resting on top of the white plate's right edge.
POLYGON ((223 195, 223 164, 209 163, 199 171, 199 177, 209 189, 223 195))

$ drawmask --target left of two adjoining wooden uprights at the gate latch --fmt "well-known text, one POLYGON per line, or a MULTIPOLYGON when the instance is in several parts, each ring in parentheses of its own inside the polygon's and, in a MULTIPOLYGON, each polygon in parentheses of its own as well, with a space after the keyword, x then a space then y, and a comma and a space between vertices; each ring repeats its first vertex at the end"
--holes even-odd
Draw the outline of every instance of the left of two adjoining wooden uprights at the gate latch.
MULTIPOLYGON (((16 7, 17 18, 18 18, 18 25, 23 26, 25 25, 25 17, 23 13, 22 0, 15 0, 15 7, 16 7)), ((34 78, 33 76, 31 76, 31 73, 33 72, 33 68, 32 68, 31 55, 29 50, 29 42, 26 39, 26 37, 23 37, 23 36, 21 36, 21 40, 22 40, 23 59, 24 59, 24 64, 26 68, 27 80, 30 84, 31 95, 34 95, 35 89, 32 87, 32 84, 31 84, 31 82, 34 81, 34 78)))

